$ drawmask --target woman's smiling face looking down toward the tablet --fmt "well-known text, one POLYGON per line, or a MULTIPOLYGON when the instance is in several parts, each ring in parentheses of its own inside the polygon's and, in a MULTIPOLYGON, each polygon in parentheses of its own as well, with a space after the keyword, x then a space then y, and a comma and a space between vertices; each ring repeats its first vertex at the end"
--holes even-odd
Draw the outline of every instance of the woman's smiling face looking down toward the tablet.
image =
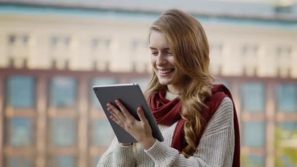
POLYGON ((165 35, 153 30, 149 36, 149 49, 151 64, 160 84, 177 88, 185 75, 178 70, 165 35))

